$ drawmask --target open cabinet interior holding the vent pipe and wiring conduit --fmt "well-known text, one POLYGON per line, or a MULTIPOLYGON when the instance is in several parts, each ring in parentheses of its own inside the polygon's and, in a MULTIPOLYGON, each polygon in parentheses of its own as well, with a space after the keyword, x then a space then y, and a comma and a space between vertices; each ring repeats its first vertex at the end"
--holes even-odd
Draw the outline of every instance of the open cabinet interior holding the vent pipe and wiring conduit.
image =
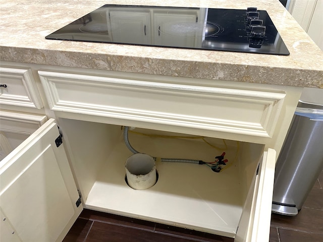
POLYGON ((264 145, 129 127, 131 146, 155 157, 158 172, 154 186, 134 190, 125 180, 125 161, 133 153, 122 124, 68 118, 59 124, 85 208, 236 236, 264 145))

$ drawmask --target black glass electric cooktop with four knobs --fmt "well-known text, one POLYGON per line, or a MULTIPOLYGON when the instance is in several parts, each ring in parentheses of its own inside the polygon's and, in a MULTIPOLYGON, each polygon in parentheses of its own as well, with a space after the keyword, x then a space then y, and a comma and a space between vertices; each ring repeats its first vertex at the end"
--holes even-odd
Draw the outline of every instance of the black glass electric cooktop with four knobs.
POLYGON ((266 11, 104 5, 46 39, 289 55, 266 11))

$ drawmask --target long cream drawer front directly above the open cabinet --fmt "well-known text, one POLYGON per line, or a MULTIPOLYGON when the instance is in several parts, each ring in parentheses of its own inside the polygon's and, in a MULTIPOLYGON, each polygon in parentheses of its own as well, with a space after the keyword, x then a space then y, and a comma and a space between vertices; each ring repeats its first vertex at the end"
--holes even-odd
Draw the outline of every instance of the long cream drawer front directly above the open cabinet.
POLYGON ((284 93, 39 71, 55 111, 271 137, 284 93))

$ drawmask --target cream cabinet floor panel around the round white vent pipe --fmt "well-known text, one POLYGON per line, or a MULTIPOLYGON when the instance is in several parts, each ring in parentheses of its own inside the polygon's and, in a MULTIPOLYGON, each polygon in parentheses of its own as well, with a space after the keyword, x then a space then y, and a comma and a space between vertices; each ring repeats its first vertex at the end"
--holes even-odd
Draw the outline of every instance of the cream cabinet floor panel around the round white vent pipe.
POLYGON ((101 169, 86 208, 235 236, 243 207, 236 165, 216 173, 206 165, 157 161, 157 183, 147 190, 133 190, 125 181, 124 164, 130 155, 121 141, 101 169))

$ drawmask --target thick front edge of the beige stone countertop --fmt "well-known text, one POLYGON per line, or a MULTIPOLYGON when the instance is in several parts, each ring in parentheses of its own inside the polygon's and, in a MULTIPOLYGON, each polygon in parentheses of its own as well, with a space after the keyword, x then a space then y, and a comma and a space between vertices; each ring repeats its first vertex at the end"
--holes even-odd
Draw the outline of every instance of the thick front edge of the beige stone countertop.
POLYGON ((0 60, 171 77, 323 89, 323 71, 1 46, 0 60), (280 78, 277 79, 277 75, 280 78))

